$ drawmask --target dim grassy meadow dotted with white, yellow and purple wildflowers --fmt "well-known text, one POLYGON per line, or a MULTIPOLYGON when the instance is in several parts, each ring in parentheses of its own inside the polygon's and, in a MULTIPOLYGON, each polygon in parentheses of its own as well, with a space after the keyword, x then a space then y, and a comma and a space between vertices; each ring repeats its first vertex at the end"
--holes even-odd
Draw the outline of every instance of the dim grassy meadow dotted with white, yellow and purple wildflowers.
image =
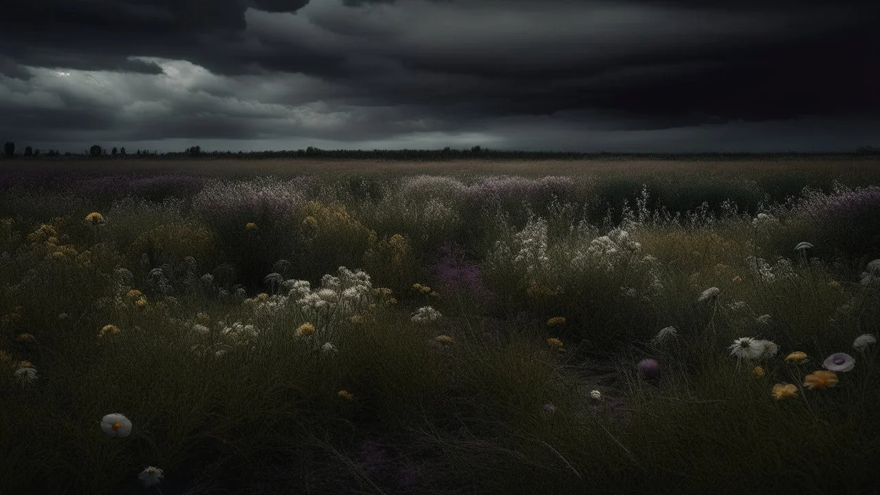
POLYGON ((0 492, 869 493, 880 159, 21 160, 0 492))

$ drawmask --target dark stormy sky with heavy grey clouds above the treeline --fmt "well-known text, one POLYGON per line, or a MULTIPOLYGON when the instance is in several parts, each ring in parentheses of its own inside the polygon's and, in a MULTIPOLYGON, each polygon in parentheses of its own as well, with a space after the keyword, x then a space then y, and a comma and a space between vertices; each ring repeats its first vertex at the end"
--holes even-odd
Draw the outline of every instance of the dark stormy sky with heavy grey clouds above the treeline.
POLYGON ((0 140, 19 150, 880 146, 876 0, 6 0, 3 11, 0 140))

